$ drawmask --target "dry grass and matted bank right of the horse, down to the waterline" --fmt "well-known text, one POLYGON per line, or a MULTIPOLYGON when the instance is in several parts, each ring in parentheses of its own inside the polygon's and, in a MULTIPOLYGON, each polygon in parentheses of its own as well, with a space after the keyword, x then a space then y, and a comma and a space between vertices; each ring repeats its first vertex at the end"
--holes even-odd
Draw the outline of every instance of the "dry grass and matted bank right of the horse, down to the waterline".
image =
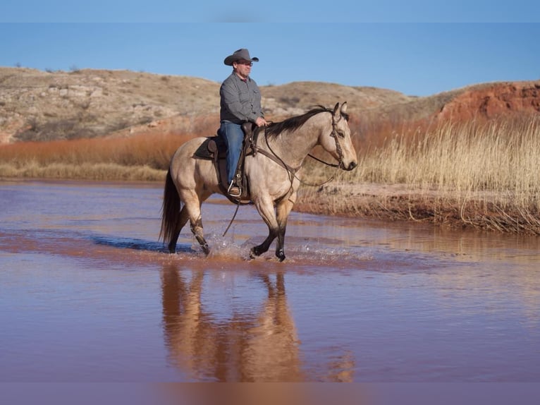
MULTIPOLYGON (((540 234, 538 117, 394 133, 359 157, 334 183, 303 188, 297 208, 540 234)), ((309 181, 329 177, 311 166, 309 181)))

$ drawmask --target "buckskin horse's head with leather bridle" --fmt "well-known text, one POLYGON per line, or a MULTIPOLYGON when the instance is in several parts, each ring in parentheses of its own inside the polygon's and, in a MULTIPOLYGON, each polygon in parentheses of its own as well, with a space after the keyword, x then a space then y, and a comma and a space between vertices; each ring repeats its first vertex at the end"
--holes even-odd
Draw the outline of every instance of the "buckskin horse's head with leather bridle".
POLYGON ((352 170, 357 164, 355 147, 350 139, 350 128, 348 123, 347 102, 339 105, 336 103, 332 114, 332 131, 323 133, 319 138, 319 143, 326 152, 329 152, 339 162, 339 167, 343 170, 352 170))

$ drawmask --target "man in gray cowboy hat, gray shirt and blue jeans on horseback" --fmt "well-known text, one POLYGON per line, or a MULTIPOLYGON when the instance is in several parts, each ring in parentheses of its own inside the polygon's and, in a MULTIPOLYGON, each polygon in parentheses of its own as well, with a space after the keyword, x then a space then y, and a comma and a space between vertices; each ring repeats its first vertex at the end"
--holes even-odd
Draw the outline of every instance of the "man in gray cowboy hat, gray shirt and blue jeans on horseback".
POLYGON ((250 78, 253 62, 259 58, 251 58, 247 49, 238 49, 223 61, 233 66, 233 72, 221 84, 220 102, 220 134, 227 143, 227 183, 228 193, 239 197, 241 190, 235 183, 235 171, 240 158, 244 139, 242 123, 252 122, 256 126, 266 126, 261 107, 261 92, 255 80, 250 78))

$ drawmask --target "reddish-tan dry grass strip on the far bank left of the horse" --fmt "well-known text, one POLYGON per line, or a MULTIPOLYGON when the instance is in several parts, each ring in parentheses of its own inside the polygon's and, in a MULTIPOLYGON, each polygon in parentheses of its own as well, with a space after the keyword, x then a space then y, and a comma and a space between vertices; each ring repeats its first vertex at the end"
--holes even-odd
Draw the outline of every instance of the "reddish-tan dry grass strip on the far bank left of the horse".
POLYGON ((0 146, 0 177, 161 180, 192 135, 137 135, 0 146))

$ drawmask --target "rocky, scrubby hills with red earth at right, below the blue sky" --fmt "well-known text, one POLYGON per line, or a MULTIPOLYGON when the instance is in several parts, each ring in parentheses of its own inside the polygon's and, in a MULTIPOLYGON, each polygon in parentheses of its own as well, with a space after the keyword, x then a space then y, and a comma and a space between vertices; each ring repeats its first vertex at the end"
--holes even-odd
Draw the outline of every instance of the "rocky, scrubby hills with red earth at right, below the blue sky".
MULTIPOLYGON (((484 83, 429 97, 318 82, 261 86, 261 92, 272 121, 343 101, 364 120, 491 119, 540 112, 540 80, 484 83)), ((197 131, 201 121, 219 126, 219 83, 134 71, 0 68, 0 143, 197 131)))

